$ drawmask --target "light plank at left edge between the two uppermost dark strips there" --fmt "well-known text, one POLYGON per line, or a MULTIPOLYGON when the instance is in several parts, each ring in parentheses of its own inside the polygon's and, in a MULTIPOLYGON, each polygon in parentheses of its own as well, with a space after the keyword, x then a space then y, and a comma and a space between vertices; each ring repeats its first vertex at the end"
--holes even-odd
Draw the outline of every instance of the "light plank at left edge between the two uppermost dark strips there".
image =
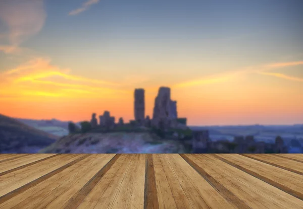
POLYGON ((55 155, 57 154, 32 154, 24 156, 23 158, 15 158, 10 161, 2 162, 0 163, 0 176, 4 175, 9 170, 13 170, 26 165, 32 165, 35 162, 40 162, 39 160, 55 155))

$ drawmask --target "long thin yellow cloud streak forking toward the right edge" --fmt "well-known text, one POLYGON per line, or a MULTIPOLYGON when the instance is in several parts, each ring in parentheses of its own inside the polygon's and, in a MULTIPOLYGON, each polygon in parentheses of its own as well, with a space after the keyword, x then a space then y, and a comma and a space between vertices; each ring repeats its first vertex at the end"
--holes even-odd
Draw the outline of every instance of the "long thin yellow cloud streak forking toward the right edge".
POLYGON ((187 82, 182 82, 175 84, 173 87, 179 88, 179 87, 187 87, 187 86, 197 86, 197 85, 205 85, 205 84, 212 84, 212 83, 220 83, 220 82, 226 82, 230 81, 231 79, 237 78, 241 75, 247 75, 251 73, 257 73, 261 75, 268 75, 268 76, 275 76, 282 79, 287 79, 291 81, 302 81, 301 78, 296 77, 290 77, 284 74, 278 74, 278 73, 268 73, 268 71, 271 71, 278 67, 287 67, 287 66, 296 66, 296 65, 302 65, 303 61, 294 61, 294 62, 277 62, 277 63, 271 63, 271 64, 265 64, 261 66, 252 66, 252 67, 246 67, 244 69, 238 69, 235 71, 223 73, 223 74, 217 74, 213 76, 207 76, 187 82))

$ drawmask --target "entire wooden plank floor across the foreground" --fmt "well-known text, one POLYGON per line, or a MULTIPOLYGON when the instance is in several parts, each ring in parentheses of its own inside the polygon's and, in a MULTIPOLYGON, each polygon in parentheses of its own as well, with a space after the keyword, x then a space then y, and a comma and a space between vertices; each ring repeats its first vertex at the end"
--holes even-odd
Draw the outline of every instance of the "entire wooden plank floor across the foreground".
POLYGON ((303 209, 303 154, 1 154, 0 208, 303 209))

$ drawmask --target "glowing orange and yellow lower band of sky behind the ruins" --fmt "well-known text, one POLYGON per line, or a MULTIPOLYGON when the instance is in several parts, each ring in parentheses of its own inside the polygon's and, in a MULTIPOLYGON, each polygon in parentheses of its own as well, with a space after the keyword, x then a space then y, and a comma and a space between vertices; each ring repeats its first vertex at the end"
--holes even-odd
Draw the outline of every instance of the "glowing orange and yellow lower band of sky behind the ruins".
MULTIPOLYGON (((265 64, 171 84, 178 114, 188 124, 291 124, 302 122, 303 82, 275 73, 302 61, 265 64)), ((125 83, 73 75, 44 59, 2 73, 1 113, 12 117, 89 120, 109 110, 116 118, 133 119, 133 91, 145 89, 146 115, 152 115, 159 86, 140 80, 125 83), (138 85, 136 84, 138 83, 138 85)))

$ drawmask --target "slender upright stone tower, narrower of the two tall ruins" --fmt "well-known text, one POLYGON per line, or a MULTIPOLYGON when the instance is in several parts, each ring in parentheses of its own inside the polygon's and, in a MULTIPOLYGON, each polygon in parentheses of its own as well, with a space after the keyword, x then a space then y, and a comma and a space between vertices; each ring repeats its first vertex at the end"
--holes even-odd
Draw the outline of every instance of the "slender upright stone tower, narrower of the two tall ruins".
POLYGON ((142 123, 145 118, 144 89, 135 89, 134 114, 135 120, 142 123))

